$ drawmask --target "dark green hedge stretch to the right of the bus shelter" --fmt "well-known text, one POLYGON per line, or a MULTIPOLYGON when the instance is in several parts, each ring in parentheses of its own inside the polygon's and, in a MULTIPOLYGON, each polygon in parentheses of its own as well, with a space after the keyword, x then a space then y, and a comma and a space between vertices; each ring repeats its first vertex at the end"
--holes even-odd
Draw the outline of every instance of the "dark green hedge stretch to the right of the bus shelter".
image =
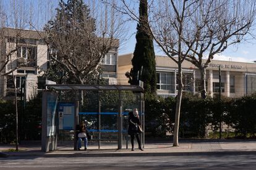
MULTIPOLYGON (((147 95, 145 100, 145 131, 148 135, 163 137, 173 133, 176 101, 147 95)), ((220 121, 234 129, 237 137, 255 137, 256 96, 239 99, 198 99, 184 95, 181 103, 180 137, 205 137, 207 127, 219 131, 220 121)))

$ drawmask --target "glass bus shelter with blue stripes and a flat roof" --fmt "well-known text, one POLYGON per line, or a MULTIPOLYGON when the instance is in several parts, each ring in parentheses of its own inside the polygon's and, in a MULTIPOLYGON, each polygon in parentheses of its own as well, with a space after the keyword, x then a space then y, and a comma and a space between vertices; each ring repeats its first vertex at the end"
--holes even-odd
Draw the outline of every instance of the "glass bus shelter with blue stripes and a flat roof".
MULTIPOLYGON (((79 121, 91 123, 89 132, 93 140, 116 140, 117 148, 126 143, 128 148, 128 113, 138 108, 142 122, 142 147, 145 145, 145 107, 143 88, 134 85, 81 85, 47 84, 42 100, 41 144, 44 152, 55 150, 58 144, 58 132, 75 130, 79 121), (61 92, 68 92, 72 100, 61 99, 61 92), (86 105, 80 105, 81 92, 86 105), (111 136, 111 137, 109 137, 111 136)), ((74 150, 77 150, 77 137, 74 136, 74 150)))

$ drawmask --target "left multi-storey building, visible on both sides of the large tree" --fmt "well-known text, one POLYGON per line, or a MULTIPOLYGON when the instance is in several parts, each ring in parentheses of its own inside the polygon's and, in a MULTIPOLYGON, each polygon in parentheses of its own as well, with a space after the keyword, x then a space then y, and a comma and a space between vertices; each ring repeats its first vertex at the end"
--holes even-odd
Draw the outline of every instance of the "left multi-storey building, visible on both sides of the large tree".
MULTIPOLYGON (((29 100, 43 89, 45 80, 41 79, 44 71, 49 67, 48 46, 46 46, 41 36, 45 36, 43 32, 38 34, 32 30, 17 30, 12 28, 3 28, 1 30, 0 39, 0 99, 13 100, 15 96, 14 84, 17 87, 18 96, 29 100), (19 37, 19 41, 16 41, 19 37), (18 42, 18 43, 17 43, 18 42), (17 51, 15 50, 17 47, 17 51), (11 62, 7 62, 6 54, 11 51, 15 52, 11 55, 11 62), (15 81, 12 79, 11 68, 14 68, 15 81), (44 82, 42 84, 42 82, 44 82)), ((109 84, 117 84, 117 55, 119 41, 113 43, 114 47, 105 55, 101 62, 103 70, 103 78, 108 79, 109 84)))

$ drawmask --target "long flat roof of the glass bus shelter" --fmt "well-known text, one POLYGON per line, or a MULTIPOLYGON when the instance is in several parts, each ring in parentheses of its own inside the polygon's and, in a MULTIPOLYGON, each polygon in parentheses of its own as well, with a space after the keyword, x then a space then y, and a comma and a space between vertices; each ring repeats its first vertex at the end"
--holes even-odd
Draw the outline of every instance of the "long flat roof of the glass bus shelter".
POLYGON ((88 84, 46 84, 46 87, 51 87, 59 91, 136 91, 144 92, 144 89, 135 85, 88 85, 88 84))

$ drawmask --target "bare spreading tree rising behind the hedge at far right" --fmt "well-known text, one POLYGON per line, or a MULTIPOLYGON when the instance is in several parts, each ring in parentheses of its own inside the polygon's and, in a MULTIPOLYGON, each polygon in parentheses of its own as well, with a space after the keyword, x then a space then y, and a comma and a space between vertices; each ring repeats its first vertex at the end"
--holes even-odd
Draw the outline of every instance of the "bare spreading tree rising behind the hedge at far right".
POLYGON ((201 76, 201 97, 206 97, 205 74, 215 54, 225 51, 231 44, 239 44, 252 35, 255 20, 256 1, 245 0, 200 0, 198 9, 190 14, 189 31, 195 42, 182 41, 190 47, 192 53, 186 60, 193 63, 201 76), (204 61, 203 59, 206 59, 204 61))

